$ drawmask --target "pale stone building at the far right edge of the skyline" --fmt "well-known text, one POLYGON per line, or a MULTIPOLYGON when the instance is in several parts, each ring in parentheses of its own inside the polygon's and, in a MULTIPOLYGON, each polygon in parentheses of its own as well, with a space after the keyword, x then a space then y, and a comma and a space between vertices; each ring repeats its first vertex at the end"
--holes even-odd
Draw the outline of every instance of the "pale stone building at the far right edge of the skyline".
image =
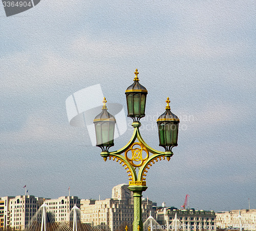
MULTIPOLYGON (((240 210, 243 230, 256 230, 256 210, 240 210)), ((218 228, 240 228, 239 210, 216 213, 218 228)))

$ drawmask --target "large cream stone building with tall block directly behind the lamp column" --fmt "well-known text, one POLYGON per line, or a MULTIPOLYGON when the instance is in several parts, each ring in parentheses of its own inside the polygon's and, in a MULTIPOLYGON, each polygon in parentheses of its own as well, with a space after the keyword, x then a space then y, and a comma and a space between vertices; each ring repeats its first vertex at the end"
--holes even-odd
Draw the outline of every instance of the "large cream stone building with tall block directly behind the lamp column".
MULTIPOLYGON (((134 207, 129 185, 121 184, 112 189, 112 198, 105 200, 81 200, 81 222, 93 223, 106 231, 124 230, 127 225, 132 230, 134 207)), ((150 213, 155 216, 152 201, 142 199, 142 220, 150 213)))

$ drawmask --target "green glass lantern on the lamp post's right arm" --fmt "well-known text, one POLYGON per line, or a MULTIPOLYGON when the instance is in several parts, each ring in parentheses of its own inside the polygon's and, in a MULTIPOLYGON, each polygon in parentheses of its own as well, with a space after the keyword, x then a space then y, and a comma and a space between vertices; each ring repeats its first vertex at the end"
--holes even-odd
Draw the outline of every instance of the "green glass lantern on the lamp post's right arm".
POLYGON ((178 145, 179 118, 170 111, 169 97, 166 100, 167 106, 165 112, 157 119, 159 146, 165 148, 165 151, 172 151, 172 148, 178 145))

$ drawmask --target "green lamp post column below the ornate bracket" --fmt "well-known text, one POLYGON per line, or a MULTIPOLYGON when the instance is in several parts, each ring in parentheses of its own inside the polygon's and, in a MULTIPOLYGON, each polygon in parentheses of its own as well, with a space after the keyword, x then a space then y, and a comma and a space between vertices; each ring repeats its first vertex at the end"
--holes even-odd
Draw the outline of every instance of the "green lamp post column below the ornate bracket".
POLYGON ((141 210, 141 197, 142 192, 147 189, 146 186, 132 185, 128 189, 133 192, 134 201, 134 220, 133 231, 143 231, 142 210, 141 210))

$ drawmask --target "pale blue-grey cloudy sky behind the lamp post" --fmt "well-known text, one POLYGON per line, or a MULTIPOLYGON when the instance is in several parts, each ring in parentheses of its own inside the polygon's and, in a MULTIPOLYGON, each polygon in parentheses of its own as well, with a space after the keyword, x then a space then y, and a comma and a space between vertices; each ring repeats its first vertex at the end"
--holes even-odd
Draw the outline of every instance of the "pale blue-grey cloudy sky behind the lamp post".
MULTIPOLYGON (((110 113, 112 103, 126 114, 138 68, 148 90, 144 140, 163 150, 156 118, 167 96, 181 119, 174 156, 151 167, 143 196, 180 208, 189 194, 190 208, 215 211, 247 209, 250 198, 256 209, 255 13, 253 0, 41 0, 10 17, 0 7, 0 196, 24 195, 27 185, 41 197, 70 187, 110 198, 127 184, 88 127, 69 124, 66 99, 97 85, 110 113)), ((132 135, 124 123, 112 151, 132 135)))

